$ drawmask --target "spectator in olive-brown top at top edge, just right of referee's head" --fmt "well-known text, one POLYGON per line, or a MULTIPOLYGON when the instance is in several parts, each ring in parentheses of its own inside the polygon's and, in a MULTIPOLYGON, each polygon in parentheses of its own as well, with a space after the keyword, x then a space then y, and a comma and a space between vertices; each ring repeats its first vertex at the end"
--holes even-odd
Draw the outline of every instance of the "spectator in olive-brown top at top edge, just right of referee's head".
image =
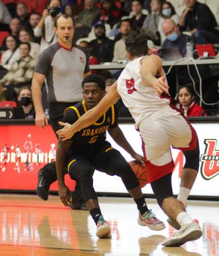
POLYGON ((97 15, 100 15, 100 9, 96 7, 96 0, 85 0, 84 9, 75 19, 76 26, 87 26, 91 29, 97 15))

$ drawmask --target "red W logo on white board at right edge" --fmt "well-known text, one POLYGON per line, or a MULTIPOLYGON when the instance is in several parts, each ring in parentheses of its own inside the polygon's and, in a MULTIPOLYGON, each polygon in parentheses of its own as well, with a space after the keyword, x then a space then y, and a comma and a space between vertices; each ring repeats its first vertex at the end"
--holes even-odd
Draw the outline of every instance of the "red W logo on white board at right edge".
POLYGON ((205 153, 201 154, 201 176, 205 180, 210 180, 219 174, 219 149, 217 140, 205 139, 205 153))

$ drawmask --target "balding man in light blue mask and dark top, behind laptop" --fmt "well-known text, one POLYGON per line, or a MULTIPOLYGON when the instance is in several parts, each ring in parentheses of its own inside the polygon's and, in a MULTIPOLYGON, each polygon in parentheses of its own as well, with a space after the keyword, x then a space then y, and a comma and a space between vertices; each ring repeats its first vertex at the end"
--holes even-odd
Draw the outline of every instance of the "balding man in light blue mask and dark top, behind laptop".
MULTIPOLYGON (((166 19, 163 22, 163 34, 165 41, 162 44, 162 49, 177 48, 182 57, 186 55, 186 43, 188 40, 192 40, 191 36, 182 34, 180 28, 172 19, 166 19)), ((162 58, 163 56, 160 55, 162 58)))

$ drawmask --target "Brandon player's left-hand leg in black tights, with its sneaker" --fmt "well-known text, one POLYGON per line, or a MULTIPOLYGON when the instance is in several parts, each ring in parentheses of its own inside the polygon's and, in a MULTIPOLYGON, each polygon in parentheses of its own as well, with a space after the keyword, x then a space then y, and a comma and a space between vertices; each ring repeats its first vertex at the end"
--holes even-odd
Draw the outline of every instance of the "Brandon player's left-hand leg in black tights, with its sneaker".
POLYGON ((97 226, 96 236, 111 236, 110 225, 106 220, 103 219, 96 192, 93 187, 94 171, 90 163, 86 160, 76 160, 74 163, 68 166, 68 170, 71 179, 79 182, 83 201, 87 205, 90 215, 97 226))

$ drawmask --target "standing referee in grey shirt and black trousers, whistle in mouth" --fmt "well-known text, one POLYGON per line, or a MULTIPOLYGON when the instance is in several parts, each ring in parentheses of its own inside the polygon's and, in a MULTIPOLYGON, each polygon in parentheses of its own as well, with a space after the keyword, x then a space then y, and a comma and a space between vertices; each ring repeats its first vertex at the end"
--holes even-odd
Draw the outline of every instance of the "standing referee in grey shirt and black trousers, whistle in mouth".
MULTIPOLYGON (((55 19, 57 43, 45 49, 37 60, 32 80, 32 97, 36 110, 35 123, 44 128, 48 120, 42 105, 42 85, 48 92, 49 119, 53 131, 60 129, 59 121, 63 119, 64 110, 82 100, 82 80, 89 73, 89 56, 85 50, 72 45, 74 35, 74 20, 71 16, 60 15, 55 19)), ((37 194, 43 200, 48 199, 49 187, 57 180, 55 163, 45 165, 38 172, 37 194)), ((80 189, 72 194, 73 209, 85 210, 80 189)))

